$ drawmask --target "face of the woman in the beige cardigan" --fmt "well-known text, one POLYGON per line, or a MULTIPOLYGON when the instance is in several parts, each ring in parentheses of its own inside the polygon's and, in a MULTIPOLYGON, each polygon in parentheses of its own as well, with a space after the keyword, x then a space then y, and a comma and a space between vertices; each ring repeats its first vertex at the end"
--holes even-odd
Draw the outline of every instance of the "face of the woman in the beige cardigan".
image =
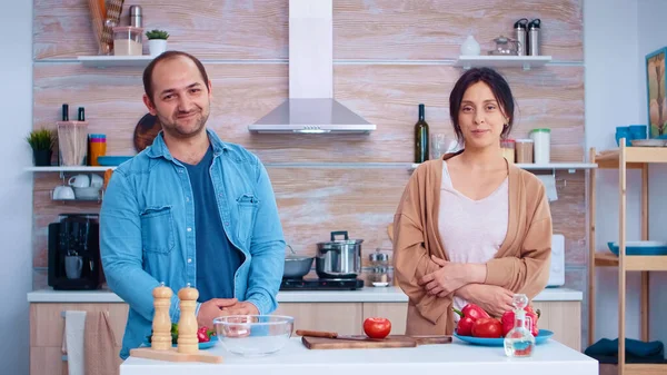
POLYGON ((466 148, 500 147, 500 135, 508 119, 487 83, 468 87, 458 114, 466 148))

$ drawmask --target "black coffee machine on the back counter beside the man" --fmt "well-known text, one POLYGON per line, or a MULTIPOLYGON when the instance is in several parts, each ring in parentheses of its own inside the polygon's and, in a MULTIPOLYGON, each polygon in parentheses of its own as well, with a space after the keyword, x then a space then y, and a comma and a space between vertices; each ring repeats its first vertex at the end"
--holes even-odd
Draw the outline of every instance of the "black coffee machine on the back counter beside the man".
POLYGON ((49 286, 57 290, 100 287, 98 214, 60 214, 49 224, 49 286))

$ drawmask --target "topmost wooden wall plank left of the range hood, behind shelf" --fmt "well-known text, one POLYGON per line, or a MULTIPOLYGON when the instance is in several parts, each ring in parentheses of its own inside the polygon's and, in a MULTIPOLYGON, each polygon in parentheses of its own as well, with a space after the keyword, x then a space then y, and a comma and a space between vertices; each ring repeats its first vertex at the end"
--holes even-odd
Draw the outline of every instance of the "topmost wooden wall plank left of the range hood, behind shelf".
MULTIPOLYGON (((211 59, 287 58, 286 0, 126 1, 121 24, 129 24, 135 4, 143 10, 146 30, 169 32, 169 49, 211 59)), ((33 34, 36 59, 98 55, 88 0, 34 0, 33 34)))

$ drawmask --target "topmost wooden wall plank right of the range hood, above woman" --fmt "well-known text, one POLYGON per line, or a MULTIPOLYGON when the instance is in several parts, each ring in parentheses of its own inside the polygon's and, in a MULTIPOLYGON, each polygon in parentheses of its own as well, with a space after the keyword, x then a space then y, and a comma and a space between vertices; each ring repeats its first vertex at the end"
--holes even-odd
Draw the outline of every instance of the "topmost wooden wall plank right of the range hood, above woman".
POLYGON ((583 0, 336 0, 338 59, 454 59, 471 33, 482 53, 515 21, 542 21, 541 55, 584 60, 583 0))

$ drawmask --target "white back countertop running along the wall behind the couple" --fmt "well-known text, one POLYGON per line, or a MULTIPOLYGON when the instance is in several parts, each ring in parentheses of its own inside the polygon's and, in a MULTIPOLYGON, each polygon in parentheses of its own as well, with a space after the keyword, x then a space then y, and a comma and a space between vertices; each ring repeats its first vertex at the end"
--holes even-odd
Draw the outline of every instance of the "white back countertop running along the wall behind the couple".
MULTIPOLYGON (((359 290, 279 292, 278 303, 391 303, 408 302, 398 287, 365 287, 359 290)), ((581 300, 583 293, 568 288, 546 288, 532 300, 581 300)), ((113 292, 41 289, 28 293, 30 303, 122 303, 113 292)))

